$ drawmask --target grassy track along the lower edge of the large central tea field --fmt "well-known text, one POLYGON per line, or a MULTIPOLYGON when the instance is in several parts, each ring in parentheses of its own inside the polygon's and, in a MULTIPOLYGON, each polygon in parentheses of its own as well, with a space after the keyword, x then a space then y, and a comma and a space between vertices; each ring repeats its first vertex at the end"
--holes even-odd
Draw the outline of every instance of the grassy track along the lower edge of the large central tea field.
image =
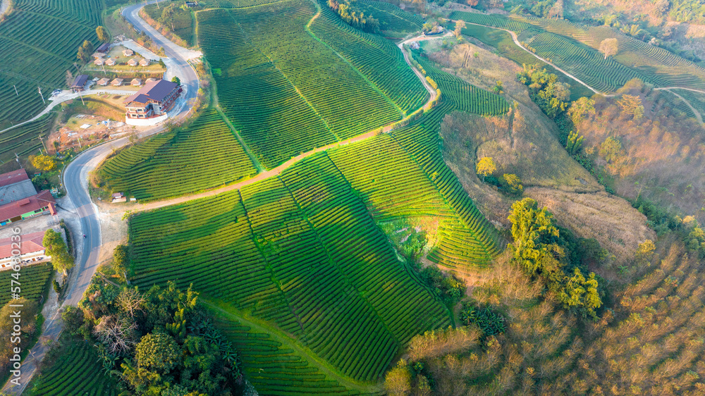
POLYGON ((345 387, 373 393, 381 392, 382 390, 381 385, 377 383, 364 383, 361 381, 354 380, 353 378, 350 378, 348 376, 345 376, 345 374, 338 372, 337 369, 334 369, 332 366, 330 366, 327 361, 319 357, 315 352, 309 349, 309 347, 302 345, 295 338, 291 338, 290 336, 286 335, 286 333, 283 333, 279 328, 269 326, 268 323, 260 319, 245 316, 244 314, 240 313, 238 309, 235 309, 235 307, 228 307, 228 309, 224 309, 219 304, 214 304, 206 298, 202 298, 201 301, 207 307, 215 309, 220 314, 226 317, 229 316, 231 318, 234 318, 236 321, 239 321, 244 326, 249 326, 252 330, 269 334, 271 338, 274 338, 276 341, 281 342, 282 346, 286 345, 287 347, 294 349, 295 352, 298 352, 298 354, 301 355, 302 359, 307 361, 309 365, 316 367, 322 373, 326 374, 326 376, 329 376, 333 380, 338 381, 339 384, 345 387))

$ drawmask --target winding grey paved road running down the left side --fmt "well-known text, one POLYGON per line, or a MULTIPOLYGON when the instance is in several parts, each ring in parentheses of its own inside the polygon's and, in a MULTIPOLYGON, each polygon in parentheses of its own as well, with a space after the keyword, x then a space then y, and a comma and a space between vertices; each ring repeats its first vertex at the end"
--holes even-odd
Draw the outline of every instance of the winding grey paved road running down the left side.
MULTIPOLYGON (((153 2, 153 1, 152 1, 153 2)), ((135 6, 130 6, 125 8, 123 13, 125 17, 128 18, 130 23, 132 23, 137 29, 142 29, 147 32, 147 35, 152 37, 154 42, 164 47, 166 56, 173 60, 175 65, 174 74, 178 76, 181 81, 181 85, 184 87, 183 97, 185 99, 185 105, 180 108, 176 115, 172 116, 174 120, 182 120, 187 117, 191 111, 193 103, 198 94, 199 82, 198 76, 192 66, 188 63, 188 56, 191 51, 182 49, 178 47, 173 42, 168 41, 164 36, 160 35, 154 29, 149 27, 147 23, 138 16, 140 8, 145 6, 145 4, 138 4, 135 6), (149 27, 149 28, 147 28, 149 27), (153 33, 156 33, 153 35, 153 33)), ((145 137, 153 135, 154 133, 161 132, 164 129, 163 125, 155 126, 144 132, 140 132, 138 135, 140 137, 145 137)), ((94 276, 98 268, 98 258, 100 254, 100 247, 102 245, 101 233, 100 233, 100 223, 97 217, 97 211, 90 199, 90 195, 87 190, 87 176, 88 172, 95 168, 103 159, 106 158, 114 149, 128 144, 128 137, 122 137, 118 140, 112 140, 104 144, 100 144, 91 149, 87 149, 79 154, 71 163, 66 166, 66 170, 63 172, 63 185, 66 186, 66 193, 71 199, 75 206, 75 210, 80 218, 81 230, 75 233, 76 244, 82 244, 81 253, 76 257, 75 267, 71 270, 71 280, 70 288, 66 293, 66 299, 63 302, 63 307, 68 305, 76 305, 83 297, 83 292, 90 284, 90 280, 94 276), (86 235, 85 238, 82 235, 86 235)), ((53 317, 48 318, 45 323, 44 329, 42 330, 42 335, 40 339, 42 340, 56 340, 61 334, 63 324, 59 318, 58 311, 53 317)), ((43 342, 37 342, 35 347, 30 349, 30 353, 25 358, 22 363, 22 376, 20 380, 20 386, 12 385, 11 383, 6 383, 1 392, 5 392, 8 395, 20 395, 27 383, 30 382, 32 376, 34 375, 37 364, 42 361, 44 354, 49 349, 43 345, 43 342)))

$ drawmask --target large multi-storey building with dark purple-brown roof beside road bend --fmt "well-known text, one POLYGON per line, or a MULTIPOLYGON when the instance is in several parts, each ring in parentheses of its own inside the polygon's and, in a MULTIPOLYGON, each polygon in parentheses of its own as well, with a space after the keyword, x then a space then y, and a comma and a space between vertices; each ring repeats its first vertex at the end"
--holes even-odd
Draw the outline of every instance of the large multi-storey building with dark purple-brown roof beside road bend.
POLYGON ((166 120, 181 94, 176 82, 158 80, 147 82, 135 94, 125 99, 125 123, 128 125, 154 125, 166 120))

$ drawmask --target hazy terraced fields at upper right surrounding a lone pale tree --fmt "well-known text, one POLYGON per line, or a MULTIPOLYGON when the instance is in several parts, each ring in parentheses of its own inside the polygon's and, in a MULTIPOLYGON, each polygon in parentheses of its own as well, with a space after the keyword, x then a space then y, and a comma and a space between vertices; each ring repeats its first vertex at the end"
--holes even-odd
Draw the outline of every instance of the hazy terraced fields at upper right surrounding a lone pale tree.
MULTIPOLYGON (((646 44, 609 27, 582 27, 565 20, 523 16, 506 18, 462 11, 451 13, 450 18, 511 30, 519 35, 520 41, 527 42, 535 49, 537 55, 549 59, 601 92, 614 92, 632 78, 639 78, 657 87, 705 88, 704 68, 666 49, 646 44), (602 40, 607 38, 618 39, 618 54, 605 59, 597 50, 602 40)), ((506 41, 508 37, 492 37, 499 35, 487 32, 484 27, 469 25, 463 34, 477 37, 485 44, 496 47, 503 56, 517 63, 542 66, 542 62, 536 58, 532 60, 531 54, 526 51, 517 48, 525 53, 522 55, 510 49, 512 45, 506 41)), ((575 81, 567 82, 580 89, 575 81)))

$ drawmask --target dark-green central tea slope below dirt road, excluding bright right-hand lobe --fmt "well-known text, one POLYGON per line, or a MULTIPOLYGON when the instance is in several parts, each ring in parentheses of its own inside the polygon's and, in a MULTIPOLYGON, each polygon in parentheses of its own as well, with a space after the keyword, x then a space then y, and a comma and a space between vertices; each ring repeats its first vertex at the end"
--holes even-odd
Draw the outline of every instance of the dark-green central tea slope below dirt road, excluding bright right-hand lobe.
POLYGON ((241 198, 141 214, 130 233, 135 283, 194 282, 276 323, 353 378, 379 378, 413 335, 449 323, 327 156, 245 187, 241 198))

